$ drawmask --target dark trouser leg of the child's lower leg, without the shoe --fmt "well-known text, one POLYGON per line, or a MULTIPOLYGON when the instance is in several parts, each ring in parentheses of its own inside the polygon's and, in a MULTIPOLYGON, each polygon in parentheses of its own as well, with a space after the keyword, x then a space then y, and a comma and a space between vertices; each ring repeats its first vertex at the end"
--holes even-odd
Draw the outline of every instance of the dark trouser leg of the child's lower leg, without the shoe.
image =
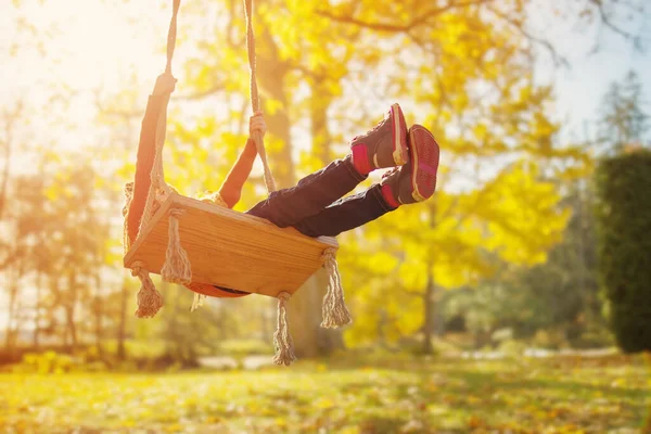
POLYGON ((382 197, 379 184, 361 193, 340 199, 319 214, 293 225, 308 237, 336 237, 341 232, 358 228, 393 210, 382 197))

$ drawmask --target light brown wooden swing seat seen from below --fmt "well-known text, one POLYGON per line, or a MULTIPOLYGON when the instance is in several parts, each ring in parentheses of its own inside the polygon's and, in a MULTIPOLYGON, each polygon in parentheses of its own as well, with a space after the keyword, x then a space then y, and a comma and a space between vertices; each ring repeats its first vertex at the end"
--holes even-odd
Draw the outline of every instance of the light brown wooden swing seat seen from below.
POLYGON ((333 238, 306 237, 293 228, 281 229, 259 217, 173 193, 125 256, 125 267, 142 260, 150 272, 161 272, 171 208, 184 210, 179 234, 192 264, 192 280, 199 283, 270 296, 294 293, 321 267, 323 251, 339 247, 333 238))

